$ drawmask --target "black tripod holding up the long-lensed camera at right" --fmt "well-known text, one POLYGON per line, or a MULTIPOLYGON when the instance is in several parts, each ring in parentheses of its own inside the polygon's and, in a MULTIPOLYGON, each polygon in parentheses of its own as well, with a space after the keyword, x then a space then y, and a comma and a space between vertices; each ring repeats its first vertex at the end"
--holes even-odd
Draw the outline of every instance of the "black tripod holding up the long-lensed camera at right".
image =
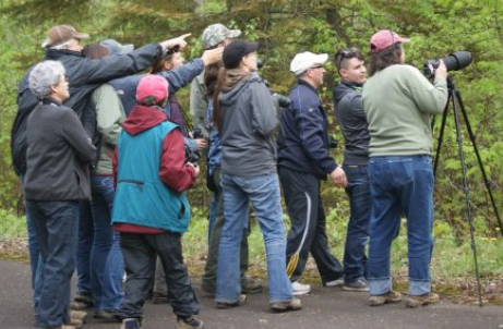
POLYGON ((439 166, 439 158, 440 158, 440 149, 442 147, 442 139, 444 137, 444 130, 445 130, 445 122, 447 119, 447 110, 448 110, 448 105, 452 103, 452 108, 454 111, 454 123, 456 127, 456 142, 457 142, 457 147, 458 147, 458 153, 459 153, 459 160, 462 162, 462 175, 463 175, 463 190, 465 192, 465 208, 466 208, 466 218, 468 219, 469 228, 470 228, 470 239, 471 239, 471 251, 474 253, 474 264, 475 264, 475 275, 477 279, 477 288, 479 292, 479 305, 482 306, 482 289, 480 285, 480 276, 479 276, 479 266, 477 261, 477 245, 475 243, 475 226, 474 226, 474 219, 471 217, 471 210, 470 210, 470 191, 468 186, 468 181, 466 179, 466 166, 465 166, 465 153, 463 151, 463 139, 462 139, 462 134, 460 134, 460 123, 459 123, 459 113, 457 110, 457 105, 459 105, 463 113, 463 119, 466 124, 466 129, 468 131, 469 138, 471 141, 471 145, 474 146, 475 154, 477 156, 477 161, 480 167, 480 171, 482 172, 483 181, 486 183, 486 187, 488 190, 489 196, 491 198, 491 204, 492 208, 494 210, 494 214, 498 218, 498 223, 501 229, 501 233, 503 234, 503 226, 501 222, 500 215, 498 212, 496 205, 494 203, 494 197, 492 195, 491 191, 491 182, 488 180, 488 175, 486 173, 486 169, 482 163, 482 159, 480 158, 479 149, 477 148, 477 144, 475 141, 475 135, 474 132, 471 131, 471 125, 470 122, 468 121, 468 115, 466 114, 465 106, 463 103, 462 96, 459 92, 456 89, 454 82, 452 77, 447 77, 447 87, 448 87, 448 99, 447 99, 447 105, 445 106, 443 117, 442 117, 442 125, 440 129, 440 135, 439 135, 439 143, 436 147, 436 155, 435 155, 435 162, 433 167, 433 172, 436 176, 436 168, 439 166))

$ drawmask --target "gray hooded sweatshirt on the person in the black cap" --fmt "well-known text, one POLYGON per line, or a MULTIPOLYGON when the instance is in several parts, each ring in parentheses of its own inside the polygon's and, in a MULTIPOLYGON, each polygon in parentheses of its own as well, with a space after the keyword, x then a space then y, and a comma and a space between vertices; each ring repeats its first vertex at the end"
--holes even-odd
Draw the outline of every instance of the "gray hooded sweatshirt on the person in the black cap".
POLYGON ((220 100, 221 173, 256 176, 276 173, 277 113, 271 93, 256 73, 220 100))

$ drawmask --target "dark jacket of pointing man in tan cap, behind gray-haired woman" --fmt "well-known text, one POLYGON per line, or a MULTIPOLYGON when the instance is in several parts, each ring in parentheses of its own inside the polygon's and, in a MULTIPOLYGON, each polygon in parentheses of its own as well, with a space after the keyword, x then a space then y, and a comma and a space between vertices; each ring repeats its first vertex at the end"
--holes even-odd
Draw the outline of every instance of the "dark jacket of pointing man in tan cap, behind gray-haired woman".
MULTIPOLYGON (((63 64, 70 82, 70 98, 64 101, 64 106, 77 113, 87 134, 94 136, 96 112, 88 105, 94 89, 112 78, 135 74, 148 68, 160 52, 159 45, 147 45, 128 54, 93 60, 77 51, 50 49, 46 52, 45 60, 56 60, 63 64)), ((17 174, 26 170, 26 120, 37 106, 37 100, 28 88, 32 68, 24 75, 17 89, 19 109, 11 132, 12 163, 17 174)))

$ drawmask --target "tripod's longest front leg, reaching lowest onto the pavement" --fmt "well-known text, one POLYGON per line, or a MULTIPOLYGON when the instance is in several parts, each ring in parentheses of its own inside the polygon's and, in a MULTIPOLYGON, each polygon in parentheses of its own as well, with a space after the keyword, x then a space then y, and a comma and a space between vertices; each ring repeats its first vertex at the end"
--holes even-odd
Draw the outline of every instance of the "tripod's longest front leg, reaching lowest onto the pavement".
POLYGON ((465 191, 465 208, 466 208, 466 217, 468 219, 469 228, 470 228, 470 240, 471 240, 471 251, 474 253, 474 265, 475 265, 475 276, 477 279, 477 288, 479 292, 479 305, 482 307, 482 289, 480 285, 480 275, 479 275, 479 264, 477 260, 477 245, 475 243, 475 226, 474 226, 474 218, 471 217, 471 210, 470 210, 470 190, 468 186, 468 181, 466 179, 466 166, 465 166, 465 153, 463 151, 463 139, 462 139, 462 134, 459 130, 459 117, 457 113, 457 108, 456 108, 456 90, 454 87, 454 84, 451 82, 451 100, 453 105, 453 110, 454 110, 454 123, 456 126, 456 142, 457 142, 457 148, 459 153, 459 160, 462 162, 462 175, 463 175, 463 190, 465 191))

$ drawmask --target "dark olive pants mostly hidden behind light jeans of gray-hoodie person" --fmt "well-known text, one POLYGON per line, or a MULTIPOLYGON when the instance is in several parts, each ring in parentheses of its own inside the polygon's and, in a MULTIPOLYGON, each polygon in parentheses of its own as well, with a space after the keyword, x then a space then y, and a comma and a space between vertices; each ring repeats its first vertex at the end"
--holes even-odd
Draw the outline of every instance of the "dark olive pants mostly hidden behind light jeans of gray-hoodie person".
MULTIPOLYGON (((213 180, 215 181, 215 186, 217 192, 214 194, 214 198, 217 203, 217 208, 215 211, 215 220, 213 228, 209 230, 209 241, 208 241, 208 251, 207 251, 207 260, 206 266, 204 267, 204 275, 202 278, 202 285, 206 291, 216 290, 216 272, 218 267, 218 249, 220 247, 220 236, 221 229, 224 228, 225 218, 224 218, 224 195, 221 193, 220 186, 220 169, 215 169, 213 172, 213 180)), ((250 232, 250 226, 248 230, 244 230, 243 236, 241 240, 240 248, 240 270, 241 277, 248 271, 248 234, 250 232)))

